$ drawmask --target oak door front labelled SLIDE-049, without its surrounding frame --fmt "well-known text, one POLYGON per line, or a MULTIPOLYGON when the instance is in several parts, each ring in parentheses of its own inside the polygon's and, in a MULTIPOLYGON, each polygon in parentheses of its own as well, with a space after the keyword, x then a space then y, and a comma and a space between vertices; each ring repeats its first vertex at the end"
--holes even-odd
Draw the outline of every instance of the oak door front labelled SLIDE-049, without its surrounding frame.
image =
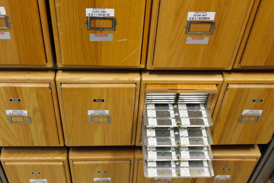
POLYGON ((60 144, 49 83, 0 83, 0 100, 1 146, 60 144))

